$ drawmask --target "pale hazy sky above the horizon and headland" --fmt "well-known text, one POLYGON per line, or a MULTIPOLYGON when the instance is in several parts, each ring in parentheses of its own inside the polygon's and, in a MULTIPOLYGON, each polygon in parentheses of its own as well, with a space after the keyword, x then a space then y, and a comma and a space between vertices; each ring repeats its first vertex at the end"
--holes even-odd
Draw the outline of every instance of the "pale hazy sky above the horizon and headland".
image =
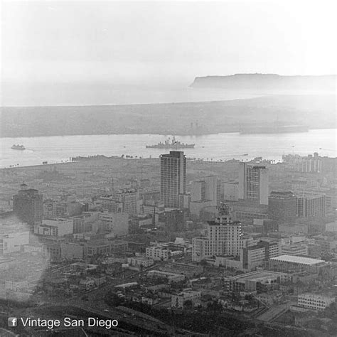
POLYGON ((5 0, 1 87, 335 74, 334 2, 5 0))

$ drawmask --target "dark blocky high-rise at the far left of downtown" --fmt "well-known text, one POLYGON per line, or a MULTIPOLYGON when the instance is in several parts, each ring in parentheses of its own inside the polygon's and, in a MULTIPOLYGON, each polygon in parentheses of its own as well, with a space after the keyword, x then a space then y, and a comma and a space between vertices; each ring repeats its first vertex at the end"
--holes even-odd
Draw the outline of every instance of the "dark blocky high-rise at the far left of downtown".
POLYGON ((21 190, 13 196, 14 214, 28 225, 41 223, 43 218, 43 197, 38 190, 27 188, 26 183, 21 185, 21 190))

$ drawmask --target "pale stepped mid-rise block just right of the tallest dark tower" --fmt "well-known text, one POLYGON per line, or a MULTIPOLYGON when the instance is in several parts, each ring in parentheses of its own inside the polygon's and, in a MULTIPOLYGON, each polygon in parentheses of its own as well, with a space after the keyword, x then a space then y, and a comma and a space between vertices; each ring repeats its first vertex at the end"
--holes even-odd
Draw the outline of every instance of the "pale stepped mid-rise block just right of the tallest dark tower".
POLYGON ((191 201, 209 200, 216 206, 220 204, 220 180, 217 176, 206 176, 191 185, 191 201))

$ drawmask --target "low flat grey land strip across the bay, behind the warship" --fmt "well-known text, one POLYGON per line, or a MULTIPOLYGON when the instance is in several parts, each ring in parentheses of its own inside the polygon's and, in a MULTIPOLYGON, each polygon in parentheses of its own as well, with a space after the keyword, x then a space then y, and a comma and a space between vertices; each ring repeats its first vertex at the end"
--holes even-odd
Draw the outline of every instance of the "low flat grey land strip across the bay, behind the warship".
POLYGON ((335 95, 266 95, 246 100, 148 105, 0 107, 1 137, 80 134, 216 134, 275 121, 335 128, 335 95), (198 127, 196 127, 198 123, 198 127), (193 125, 192 125, 193 124, 193 125))

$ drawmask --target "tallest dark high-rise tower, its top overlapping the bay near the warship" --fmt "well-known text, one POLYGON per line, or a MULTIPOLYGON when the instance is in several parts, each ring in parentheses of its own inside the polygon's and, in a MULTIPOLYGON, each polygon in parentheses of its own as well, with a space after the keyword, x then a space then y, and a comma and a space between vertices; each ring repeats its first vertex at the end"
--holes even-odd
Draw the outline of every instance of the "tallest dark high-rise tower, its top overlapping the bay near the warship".
POLYGON ((160 161, 161 200, 165 207, 178 208, 178 196, 186 193, 186 156, 183 151, 170 151, 160 161))

